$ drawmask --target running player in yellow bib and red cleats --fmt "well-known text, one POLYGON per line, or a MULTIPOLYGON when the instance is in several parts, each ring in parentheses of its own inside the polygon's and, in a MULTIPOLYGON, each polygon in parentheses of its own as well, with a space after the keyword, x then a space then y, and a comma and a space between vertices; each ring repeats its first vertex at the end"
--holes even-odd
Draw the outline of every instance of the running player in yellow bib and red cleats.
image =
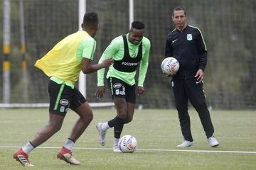
POLYGON ((60 130, 68 108, 75 111, 80 118, 75 123, 70 137, 58 152, 57 157, 69 164, 80 164, 73 157, 71 149, 92 121, 93 115, 85 97, 75 88, 75 82, 78 81, 81 70, 84 74, 87 74, 109 67, 113 62, 110 58, 100 64, 91 63, 96 48, 96 41, 93 37, 97 28, 97 14, 85 13, 82 30, 68 35, 44 57, 36 61, 35 66, 50 77, 48 84, 50 118, 48 125, 14 153, 14 159, 23 166, 33 166, 28 160, 28 153, 60 130))

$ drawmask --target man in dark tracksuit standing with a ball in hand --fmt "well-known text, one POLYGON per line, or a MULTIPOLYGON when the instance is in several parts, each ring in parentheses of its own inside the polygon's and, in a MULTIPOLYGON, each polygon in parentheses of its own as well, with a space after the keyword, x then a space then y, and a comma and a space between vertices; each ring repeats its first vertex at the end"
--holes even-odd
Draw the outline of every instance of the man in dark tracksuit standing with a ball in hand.
POLYGON ((180 64, 178 72, 172 79, 178 118, 184 138, 181 145, 177 147, 193 147, 188 100, 198 112, 210 146, 217 147, 219 143, 213 136, 214 128, 203 92, 203 71, 207 62, 206 44, 201 31, 186 24, 186 12, 182 7, 174 8, 172 19, 176 29, 167 35, 165 56, 176 58, 180 64))

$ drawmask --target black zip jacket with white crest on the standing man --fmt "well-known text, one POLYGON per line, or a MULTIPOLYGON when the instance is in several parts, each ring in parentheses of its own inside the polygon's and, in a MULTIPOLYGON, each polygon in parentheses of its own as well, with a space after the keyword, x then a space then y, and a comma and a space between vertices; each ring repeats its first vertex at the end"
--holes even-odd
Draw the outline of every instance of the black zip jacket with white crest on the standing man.
POLYGON ((180 64, 173 79, 191 79, 198 69, 204 71, 207 49, 201 31, 192 26, 173 30, 166 38, 165 57, 174 57, 180 64))

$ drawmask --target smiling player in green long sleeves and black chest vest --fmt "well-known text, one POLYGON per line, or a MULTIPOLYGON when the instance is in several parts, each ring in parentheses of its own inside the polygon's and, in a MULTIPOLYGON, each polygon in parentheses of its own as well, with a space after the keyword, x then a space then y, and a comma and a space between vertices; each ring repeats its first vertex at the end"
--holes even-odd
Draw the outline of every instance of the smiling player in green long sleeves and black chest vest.
MULTIPOLYGON (((105 123, 98 123, 96 128, 100 134, 99 142, 105 145, 105 135, 109 128, 114 127, 114 152, 120 152, 118 148, 119 138, 125 123, 132 121, 134 106, 136 103, 135 74, 139 67, 139 80, 137 95, 144 93, 144 79, 149 64, 150 41, 144 37, 144 23, 132 22, 129 33, 114 38, 106 48, 99 64, 107 58, 113 57, 114 64, 107 72, 110 92, 117 108, 117 116, 105 123)), ((97 72, 97 98, 102 98, 105 93, 104 85, 105 69, 97 72)))

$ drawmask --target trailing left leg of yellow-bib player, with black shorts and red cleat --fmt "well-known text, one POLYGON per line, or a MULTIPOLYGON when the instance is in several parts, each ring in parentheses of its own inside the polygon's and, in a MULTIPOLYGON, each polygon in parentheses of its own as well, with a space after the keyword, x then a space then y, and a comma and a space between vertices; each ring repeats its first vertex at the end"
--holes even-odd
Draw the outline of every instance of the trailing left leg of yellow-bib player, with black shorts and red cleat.
POLYGON ((24 166, 31 166, 28 160, 28 153, 31 152, 35 147, 46 142, 55 132, 60 130, 65 114, 68 109, 68 96, 65 94, 72 93, 72 89, 65 84, 57 84, 55 81, 50 80, 48 84, 48 93, 50 96, 50 107, 49 107, 49 122, 43 129, 41 129, 36 136, 24 145, 21 149, 18 149, 14 153, 14 158, 21 162, 24 166), (63 95, 64 94, 64 95, 63 95), (67 97, 67 98, 66 98, 67 97))

